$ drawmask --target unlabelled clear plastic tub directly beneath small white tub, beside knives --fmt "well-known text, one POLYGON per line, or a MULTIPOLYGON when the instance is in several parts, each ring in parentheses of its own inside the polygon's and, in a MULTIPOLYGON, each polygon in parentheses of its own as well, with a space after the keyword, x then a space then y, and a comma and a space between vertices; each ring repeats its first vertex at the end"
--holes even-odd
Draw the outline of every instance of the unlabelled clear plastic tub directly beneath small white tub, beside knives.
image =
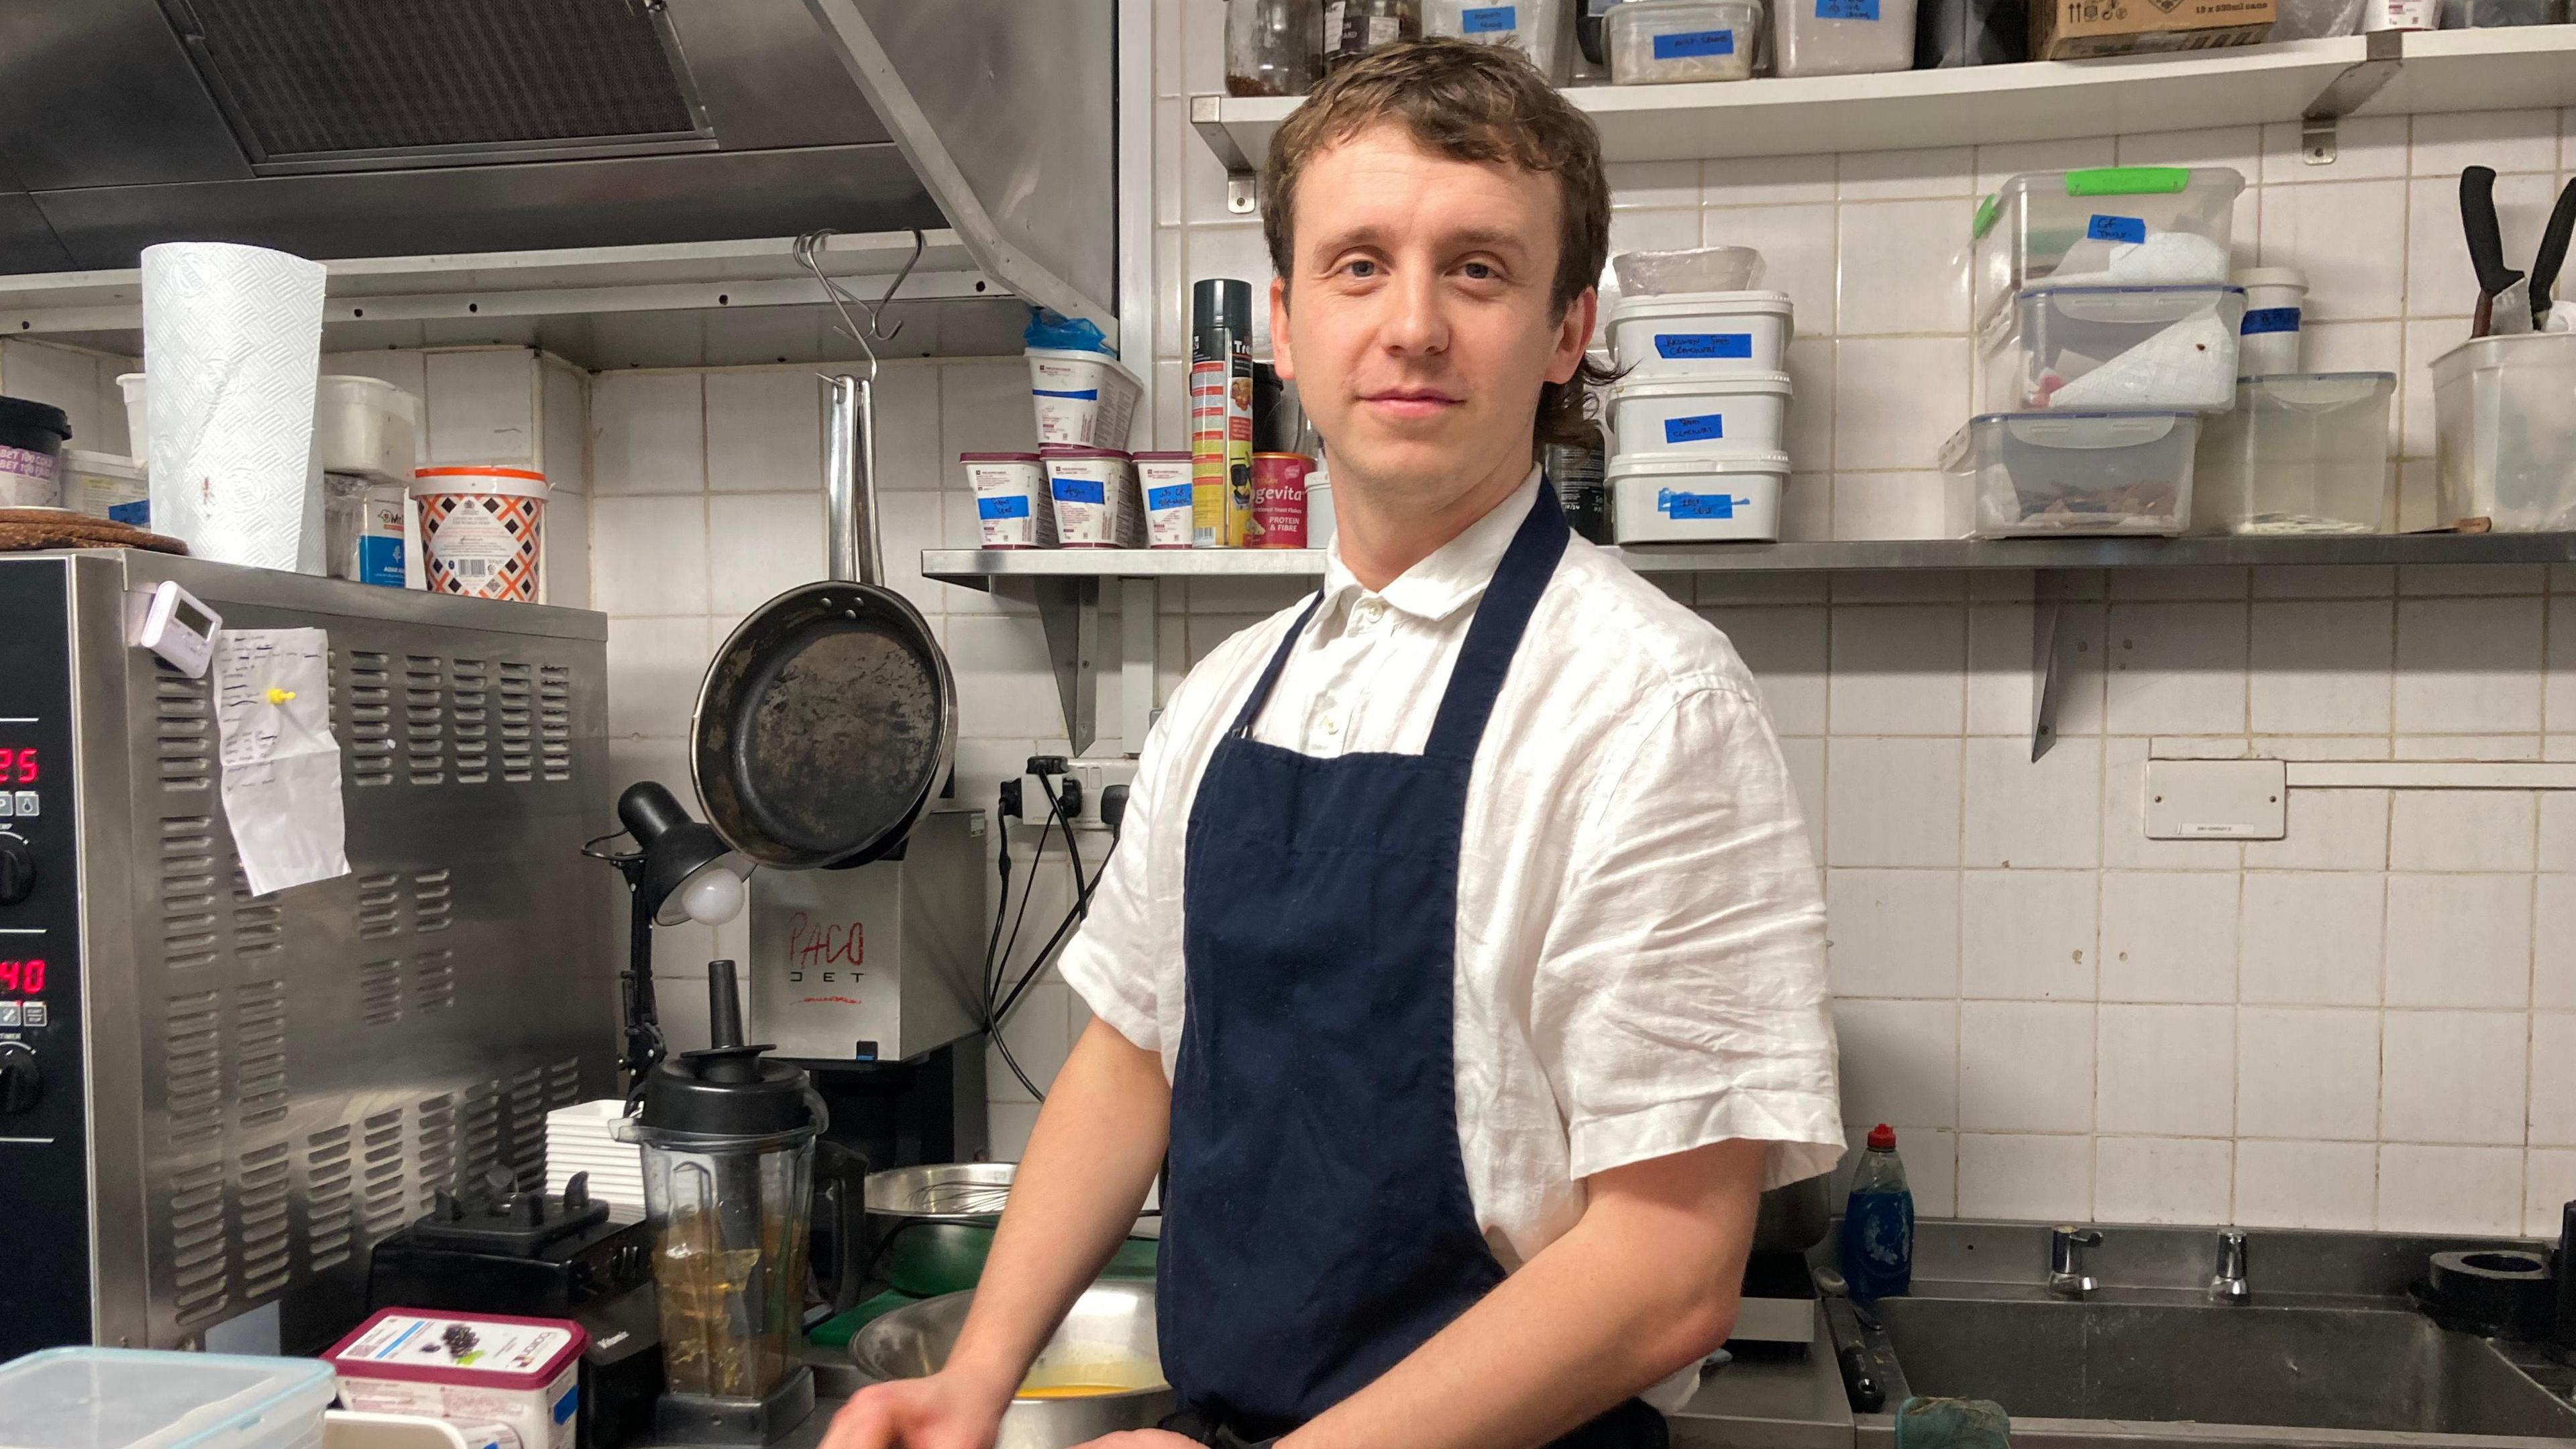
POLYGON ((2200 428, 2195 534, 2378 534, 2393 371, 2249 376, 2200 428))

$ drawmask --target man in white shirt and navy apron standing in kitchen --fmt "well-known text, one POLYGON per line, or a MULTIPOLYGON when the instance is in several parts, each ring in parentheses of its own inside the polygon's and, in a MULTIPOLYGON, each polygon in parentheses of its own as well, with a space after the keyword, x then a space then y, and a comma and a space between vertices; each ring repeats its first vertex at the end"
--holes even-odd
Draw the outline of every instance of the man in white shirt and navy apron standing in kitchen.
POLYGON ((1842 1150, 1754 683, 1530 467, 1607 250, 1589 121, 1512 52, 1399 46, 1298 106, 1265 186, 1278 369, 1332 454, 1324 590, 1172 694, 974 1315, 827 1449, 989 1446, 1167 1152, 1170 1428, 1656 1446, 1759 1189, 1842 1150))

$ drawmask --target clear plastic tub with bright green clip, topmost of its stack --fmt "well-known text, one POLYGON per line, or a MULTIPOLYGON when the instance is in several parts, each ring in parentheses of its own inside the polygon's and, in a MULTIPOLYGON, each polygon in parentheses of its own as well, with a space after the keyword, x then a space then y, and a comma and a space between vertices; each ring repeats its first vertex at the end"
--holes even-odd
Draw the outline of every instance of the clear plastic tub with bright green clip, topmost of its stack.
POLYGON ((1976 206, 1978 320, 2025 286, 2223 284, 2246 178, 2223 165, 2097 165, 2014 175, 1976 206))

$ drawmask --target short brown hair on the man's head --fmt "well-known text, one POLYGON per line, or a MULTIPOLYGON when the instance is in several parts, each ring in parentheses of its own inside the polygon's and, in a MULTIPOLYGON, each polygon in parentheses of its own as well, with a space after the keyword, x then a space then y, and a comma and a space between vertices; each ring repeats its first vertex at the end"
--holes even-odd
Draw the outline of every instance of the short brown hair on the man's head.
MULTIPOLYGON (((1556 178, 1556 317, 1595 286, 1610 258, 1610 180, 1592 119, 1566 103, 1512 46, 1435 39, 1370 52, 1332 72, 1270 139, 1262 168, 1262 237, 1270 271, 1296 276, 1291 219, 1296 183, 1306 165, 1340 142, 1378 124, 1401 124, 1432 155, 1468 162, 1504 162, 1556 178)), ((1584 384, 1610 374, 1589 361, 1571 382, 1538 392, 1538 443, 1592 441, 1584 423, 1584 384)))

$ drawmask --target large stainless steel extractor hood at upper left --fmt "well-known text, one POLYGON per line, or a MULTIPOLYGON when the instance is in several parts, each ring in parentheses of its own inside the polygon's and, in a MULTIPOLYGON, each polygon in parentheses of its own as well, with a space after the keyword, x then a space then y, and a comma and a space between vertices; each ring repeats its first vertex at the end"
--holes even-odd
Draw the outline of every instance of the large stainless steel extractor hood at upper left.
POLYGON ((0 273, 953 227, 1103 317, 1113 52, 1113 0, 5 5, 0 273))

